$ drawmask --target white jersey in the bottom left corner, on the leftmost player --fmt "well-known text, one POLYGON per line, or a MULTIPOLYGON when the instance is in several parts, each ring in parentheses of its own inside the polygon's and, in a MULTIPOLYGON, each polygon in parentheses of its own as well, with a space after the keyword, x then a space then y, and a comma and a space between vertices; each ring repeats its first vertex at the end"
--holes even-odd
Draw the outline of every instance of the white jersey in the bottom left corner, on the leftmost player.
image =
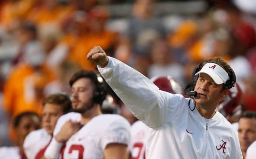
POLYGON ((19 147, 0 147, 0 159, 22 159, 19 147))

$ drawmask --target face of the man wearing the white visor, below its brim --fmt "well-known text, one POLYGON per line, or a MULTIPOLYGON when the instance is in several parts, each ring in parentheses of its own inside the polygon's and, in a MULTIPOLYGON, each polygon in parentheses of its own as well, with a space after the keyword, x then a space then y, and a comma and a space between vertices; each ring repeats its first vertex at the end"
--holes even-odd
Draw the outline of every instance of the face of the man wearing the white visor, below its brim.
POLYGON ((228 94, 228 90, 222 91, 222 88, 223 84, 216 84, 208 74, 201 73, 195 85, 196 103, 202 108, 215 109, 228 94))

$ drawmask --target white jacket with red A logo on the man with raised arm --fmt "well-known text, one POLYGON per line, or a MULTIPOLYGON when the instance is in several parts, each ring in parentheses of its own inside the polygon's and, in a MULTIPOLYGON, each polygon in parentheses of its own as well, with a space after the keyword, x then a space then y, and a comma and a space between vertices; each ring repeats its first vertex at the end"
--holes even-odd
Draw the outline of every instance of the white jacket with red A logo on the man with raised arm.
POLYGON ((238 133, 218 111, 200 115, 190 98, 160 91, 135 69, 108 57, 98 69, 133 115, 149 128, 147 159, 242 159, 238 133))

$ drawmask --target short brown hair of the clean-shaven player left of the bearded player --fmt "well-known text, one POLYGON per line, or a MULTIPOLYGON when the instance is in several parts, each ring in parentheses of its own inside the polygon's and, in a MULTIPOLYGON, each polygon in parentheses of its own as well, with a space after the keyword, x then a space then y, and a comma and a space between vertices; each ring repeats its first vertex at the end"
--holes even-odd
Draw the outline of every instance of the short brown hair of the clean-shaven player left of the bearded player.
POLYGON ((46 97, 43 99, 43 106, 45 106, 47 103, 61 106, 64 114, 70 112, 72 108, 72 103, 69 96, 64 93, 56 93, 46 97))

